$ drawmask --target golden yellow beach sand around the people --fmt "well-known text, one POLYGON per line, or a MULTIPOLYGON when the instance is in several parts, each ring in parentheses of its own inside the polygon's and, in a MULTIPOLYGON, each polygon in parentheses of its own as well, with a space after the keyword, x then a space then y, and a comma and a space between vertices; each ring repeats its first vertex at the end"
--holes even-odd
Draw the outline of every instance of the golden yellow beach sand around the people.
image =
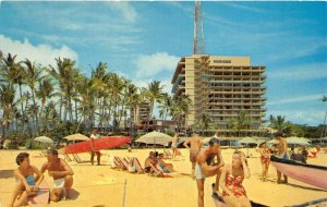
MULTIPOLYGON (((71 200, 50 203, 50 206, 123 206, 125 207, 196 207, 196 182, 191 179, 191 162, 189 150, 181 149, 182 156, 175 160, 167 159, 174 166, 173 178, 156 178, 148 174, 133 174, 126 171, 110 169, 109 156, 137 157, 144 163, 148 153, 153 149, 128 150, 101 150, 101 166, 90 166, 90 162, 69 162, 74 170, 74 185, 71 200), (124 194, 125 192, 125 194, 124 194)), ((162 149, 157 149, 159 153, 162 149)), ((246 149, 242 149, 246 153, 246 149)), ((14 186, 13 169, 16 168, 15 157, 22 150, 0 151, 0 206, 7 206, 14 186)), ((40 150, 25 150, 31 155, 31 162, 40 168, 46 161, 45 157, 38 157, 40 150)), ((226 162, 231 161, 233 149, 222 149, 226 162)), ((289 184, 277 184, 276 169, 270 166, 268 181, 261 181, 262 166, 259 154, 250 149, 251 158, 247 158, 252 176, 244 180, 243 184, 250 199, 267 206, 292 206, 310 200, 327 197, 327 192, 312 185, 289 179, 289 184)), ((63 158, 62 156, 60 156, 63 158)), ((88 154, 80 154, 82 160, 88 160, 88 154)), ((317 158, 308 158, 308 163, 327 166, 327 154, 318 154, 317 158)), ((51 179, 46 175, 46 181, 51 186, 51 179)), ((322 178, 326 179, 326 178, 322 178)), ((206 179, 205 206, 214 206, 210 184, 215 178, 206 179)), ((326 206, 320 204, 319 206, 326 206)))

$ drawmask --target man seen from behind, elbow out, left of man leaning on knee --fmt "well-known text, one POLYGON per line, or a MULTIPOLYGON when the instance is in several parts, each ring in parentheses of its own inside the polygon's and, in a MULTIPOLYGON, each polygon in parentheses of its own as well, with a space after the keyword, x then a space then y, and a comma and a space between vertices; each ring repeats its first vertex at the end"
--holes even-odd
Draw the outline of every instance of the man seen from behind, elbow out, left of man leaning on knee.
POLYGON ((199 138, 198 133, 194 132, 192 137, 186 139, 183 145, 185 148, 190 149, 190 161, 192 162, 192 175, 191 176, 192 176, 192 179, 195 179, 195 176, 194 176, 195 165, 196 165, 196 160, 197 160, 197 155, 202 147, 202 141, 199 138), (189 147, 189 144, 190 144, 190 147, 189 147))

